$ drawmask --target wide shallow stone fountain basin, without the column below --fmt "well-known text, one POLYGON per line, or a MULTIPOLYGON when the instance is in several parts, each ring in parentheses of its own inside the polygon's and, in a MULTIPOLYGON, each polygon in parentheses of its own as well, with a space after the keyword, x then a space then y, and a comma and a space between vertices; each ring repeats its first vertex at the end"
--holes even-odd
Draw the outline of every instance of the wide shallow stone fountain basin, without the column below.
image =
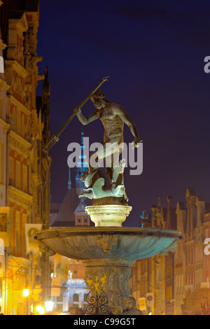
POLYGON ((76 227, 39 231, 36 239, 52 254, 72 259, 139 260, 173 251, 180 234, 160 228, 76 227))

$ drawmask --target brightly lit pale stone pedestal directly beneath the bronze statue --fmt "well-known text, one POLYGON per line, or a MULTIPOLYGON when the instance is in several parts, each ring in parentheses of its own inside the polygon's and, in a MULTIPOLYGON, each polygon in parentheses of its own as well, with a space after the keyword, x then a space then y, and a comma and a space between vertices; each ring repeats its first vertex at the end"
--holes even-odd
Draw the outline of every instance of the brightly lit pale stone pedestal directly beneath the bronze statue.
POLYGON ((122 223, 129 216, 131 210, 132 207, 121 206, 119 204, 106 204, 85 208, 86 213, 90 215, 90 219, 96 227, 122 226, 122 223))

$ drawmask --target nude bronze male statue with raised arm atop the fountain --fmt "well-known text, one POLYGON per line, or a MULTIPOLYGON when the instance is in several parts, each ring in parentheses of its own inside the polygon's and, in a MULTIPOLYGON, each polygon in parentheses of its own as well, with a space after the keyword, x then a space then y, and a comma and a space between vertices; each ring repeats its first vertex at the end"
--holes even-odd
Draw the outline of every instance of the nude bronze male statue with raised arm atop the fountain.
MULTIPOLYGON (((125 195, 125 186, 123 183, 123 170, 125 165, 122 165, 120 162, 120 172, 118 170, 118 174, 115 175, 116 168, 119 167, 116 162, 116 149, 113 147, 114 145, 120 146, 117 147, 117 159, 123 151, 123 127, 124 123, 130 127, 132 134, 134 135, 133 146, 138 147, 141 142, 139 139, 139 134, 137 132, 137 127, 134 125, 130 116, 128 116, 127 112, 123 108, 116 103, 110 102, 106 99, 106 95, 102 90, 97 90, 90 97, 92 103, 96 107, 96 110, 87 116, 83 116, 80 108, 76 109, 76 115, 80 120, 80 123, 83 125, 87 125, 91 123, 93 120, 100 119, 104 126, 104 144, 102 144, 102 148, 91 153, 89 157, 88 163, 88 172, 86 172, 83 176, 80 177, 85 182, 85 186, 87 187, 85 190, 93 190, 93 184, 96 183, 97 179, 100 179, 97 182, 97 188, 95 188, 95 192, 92 194, 90 192, 83 193, 82 196, 100 199, 102 197, 120 197, 127 201, 127 196, 125 195), (106 168, 106 175, 109 178, 110 186, 106 186, 106 182, 104 179, 104 175, 102 171, 100 171, 95 167, 92 167, 91 159, 97 155, 97 159, 100 161, 104 159, 104 164, 106 168), (111 165, 107 165, 107 159, 111 158, 111 165), (91 182, 92 176, 94 176, 94 181, 91 182), (124 188, 123 188, 124 187, 124 188), (106 193, 103 193, 106 192, 106 193)), ((96 186, 96 185, 95 185, 96 186)))

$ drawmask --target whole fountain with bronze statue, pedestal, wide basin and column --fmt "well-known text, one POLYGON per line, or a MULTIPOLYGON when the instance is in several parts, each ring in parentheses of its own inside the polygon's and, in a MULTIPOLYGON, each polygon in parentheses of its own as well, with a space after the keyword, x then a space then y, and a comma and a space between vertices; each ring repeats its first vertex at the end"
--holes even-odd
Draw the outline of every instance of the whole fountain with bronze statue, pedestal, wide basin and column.
MULTIPOLYGON (((134 146, 139 146, 137 128, 122 106, 109 102, 100 90, 91 95, 97 107, 92 116, 85 118, 76 109, 81 123, 90 123, 100 118, 106 134, 102 150, 97 158, 104 158, 107 141, 119 145, 123 141, 123 123, 129 125, 134 134, 134 146), (114 138, 111 139, 111 136, 114 138)), ((122 150, 121 150, 122 151, 122 150)), ((106 148, 106 157, 115 151, 106 148), (108 151, 107 151, 108 150, 108 151)), ((92 153, 96 155, 96 153, 92 153)), ((110 185, 106 186, 104 174, 99 166, 92 167, 81 179, 85 192, 80 197, 92 199, 92 206, 85 211, 94 222, 94 227, 74 227, 42 230, 36 233, 40 251, 48 255, 59 253, 68 258, 82 260, 85 266, 85 281, 90 288, 90 300, 86 310, 74 309, 71 314, 123 314, 139 315, 136 300, 130 296, 130 267, 135 260, 149 258, 158 253, 175 251, 181 238, 176 230, 161 228, 123 227, 132 207, 127 204, 123 182, 125 161, 111 162, 106 170, 110 185)))

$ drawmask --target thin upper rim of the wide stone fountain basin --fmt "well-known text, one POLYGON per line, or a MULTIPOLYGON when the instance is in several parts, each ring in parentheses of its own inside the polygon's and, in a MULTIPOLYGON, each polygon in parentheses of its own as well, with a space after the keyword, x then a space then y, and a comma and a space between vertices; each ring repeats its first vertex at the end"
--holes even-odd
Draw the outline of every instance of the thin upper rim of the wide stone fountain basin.
POLYGON ((50 228, 36 232, 34 239, 56 239, 64 237, 88 237, 97 235, 118 235, 128 237, 170 237, 182 239, 178 230, 162 228, 127 228, 127 227, 76 227, 76 228, 50 228))

